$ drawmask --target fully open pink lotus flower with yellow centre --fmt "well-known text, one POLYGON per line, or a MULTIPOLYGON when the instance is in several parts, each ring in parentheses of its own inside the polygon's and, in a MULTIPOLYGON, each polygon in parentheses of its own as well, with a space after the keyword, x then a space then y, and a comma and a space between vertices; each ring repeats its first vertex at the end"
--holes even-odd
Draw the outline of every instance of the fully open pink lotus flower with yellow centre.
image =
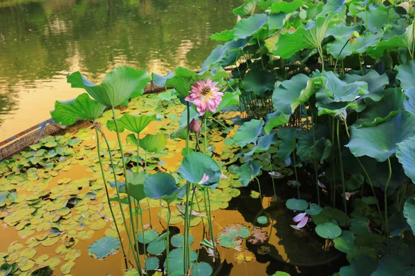
POLYGON ((186 101, 190 101, 196 106, 196 110, 200 115, 205 115, 205 112, 216 112, 216 108, 222 101, 223 93, 219 92, 219 88, 216 88, 218 83, 206 79, 206 81, 196 81, 190 95, 185 97, 186 101))

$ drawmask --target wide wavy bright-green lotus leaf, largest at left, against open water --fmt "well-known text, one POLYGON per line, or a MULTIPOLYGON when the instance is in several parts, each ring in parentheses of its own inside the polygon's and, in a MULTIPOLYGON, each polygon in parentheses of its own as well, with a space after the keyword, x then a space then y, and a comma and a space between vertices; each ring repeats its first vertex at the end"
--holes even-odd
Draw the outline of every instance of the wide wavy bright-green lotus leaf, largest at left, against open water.
POLYGON ((98 86, 91 83, 80 72, 69 74, 66 78, 73 88, 84 88, 93 99, 104 106, 116 107, 127 103, 131 97, 138 97, 144 92, 150 81, 147 72, 120 66, 109 72, 98 86))

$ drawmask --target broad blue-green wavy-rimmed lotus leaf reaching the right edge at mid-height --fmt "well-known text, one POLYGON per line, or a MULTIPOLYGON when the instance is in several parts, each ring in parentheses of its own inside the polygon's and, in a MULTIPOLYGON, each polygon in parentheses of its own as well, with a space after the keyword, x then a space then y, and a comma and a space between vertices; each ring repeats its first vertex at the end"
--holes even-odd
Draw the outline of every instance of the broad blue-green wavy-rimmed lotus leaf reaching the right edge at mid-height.
POLYGON ((382 162, 396 152, 396 144, 415 136, 414 124, 415 115, 403 111, 374 127, 351 126, 351 139, 346 146, 356 157, 367 155, 382 162))

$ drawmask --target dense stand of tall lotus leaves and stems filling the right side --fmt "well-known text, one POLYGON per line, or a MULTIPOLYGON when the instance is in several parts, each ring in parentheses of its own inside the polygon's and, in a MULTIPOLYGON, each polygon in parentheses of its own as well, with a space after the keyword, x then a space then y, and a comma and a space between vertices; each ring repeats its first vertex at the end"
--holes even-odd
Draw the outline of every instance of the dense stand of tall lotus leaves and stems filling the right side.
POLYGON ((413 2, 246 0, 233 12, 203 69, 232 66, 240 97, 274 107, 232 139, 250 150, 244 182, 261 174, 252 153, 268 152, 294 170, 294 230, 347 254, 337 275, 414 274, 413 2))

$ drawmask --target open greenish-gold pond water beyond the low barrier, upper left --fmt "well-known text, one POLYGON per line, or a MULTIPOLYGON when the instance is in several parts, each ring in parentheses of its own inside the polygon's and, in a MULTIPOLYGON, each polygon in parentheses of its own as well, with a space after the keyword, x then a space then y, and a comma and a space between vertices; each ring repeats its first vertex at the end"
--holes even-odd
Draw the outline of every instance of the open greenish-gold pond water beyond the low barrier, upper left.
POLYGON ((232 28, 241 0, 0 1, 0 141, 50 117, 55 100, 79 91, 66 74, 99 82, 127 65, 192 70, 232 28))

